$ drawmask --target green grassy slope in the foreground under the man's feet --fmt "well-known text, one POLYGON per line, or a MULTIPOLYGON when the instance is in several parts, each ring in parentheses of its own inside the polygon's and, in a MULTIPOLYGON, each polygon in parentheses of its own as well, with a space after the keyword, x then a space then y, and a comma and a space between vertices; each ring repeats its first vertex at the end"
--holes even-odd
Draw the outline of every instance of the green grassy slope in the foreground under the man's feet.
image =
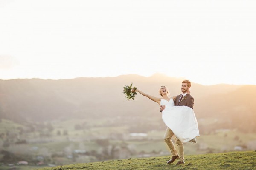
POLYGON ((39 170, 256 170, 256 151, 186 155, 185 165, 166 164, 169 156, 122 159, 39 170))

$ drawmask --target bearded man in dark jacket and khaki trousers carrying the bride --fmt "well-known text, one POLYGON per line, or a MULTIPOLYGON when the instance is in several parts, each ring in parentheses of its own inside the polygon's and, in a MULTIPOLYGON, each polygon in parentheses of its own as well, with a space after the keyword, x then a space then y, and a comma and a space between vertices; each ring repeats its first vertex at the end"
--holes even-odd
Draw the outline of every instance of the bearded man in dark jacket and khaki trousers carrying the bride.
MULTIPOLYGON (((183 80, 181 83, 181 92, 182 94, 178 95, 174 101, 175 106, 188 106, 193 109, 194 106, 194 98, 190 96, 190 94, 187 94, 187 91, 191 87, 191 83, 189 80, 183 80)), ((165 109, 165 105, 161 106, 160 111, 162 112, 165 109)), ((178 150, 176 150, 171 138, 174 135, 172 130, 167 127, 166 133, 164 135, 164 140, 168 147, 171 150, 172 153, 172 159, 170 159, 167 164, 171 164, 175 161, 175 159, 178 159, 178 163, 176 165, 185 164, 184 161, 184 147, 183 143, 176 137, 175 143, 177 144, 178 150)), ((192 139, 193 140, 193 139, 192 139)), ((196 143, 196 141, 192 141, 196 143)))

